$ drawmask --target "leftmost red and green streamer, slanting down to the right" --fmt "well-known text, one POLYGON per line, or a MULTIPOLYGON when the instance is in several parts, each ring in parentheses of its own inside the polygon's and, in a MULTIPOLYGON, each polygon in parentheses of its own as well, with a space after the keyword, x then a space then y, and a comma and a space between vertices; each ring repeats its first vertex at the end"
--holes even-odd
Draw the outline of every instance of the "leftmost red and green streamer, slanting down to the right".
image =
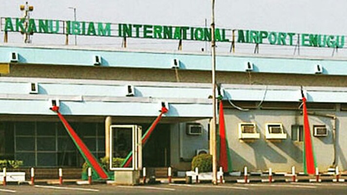
POLYGON ((51 108, 52 111, 56 112, 58 114, 58 117, 60 121, 63 123, 67 133, 71 137, 71 139, 74 141, 78 151, 83 156, 84 160, 87 162, 87 164, 94 170, 97 175, 102 179, 108 179, 109 176, 106 173, 106 171, 101 167, 100 163, 98 163, 96 157, 89 151, 87 146, 83 143, 80 137, 78 137, 77 133, 74 131, 74 129, 70 126, 70 124, 65 120, 65 118, 59 113, 59 107, 53 106, 51 108))

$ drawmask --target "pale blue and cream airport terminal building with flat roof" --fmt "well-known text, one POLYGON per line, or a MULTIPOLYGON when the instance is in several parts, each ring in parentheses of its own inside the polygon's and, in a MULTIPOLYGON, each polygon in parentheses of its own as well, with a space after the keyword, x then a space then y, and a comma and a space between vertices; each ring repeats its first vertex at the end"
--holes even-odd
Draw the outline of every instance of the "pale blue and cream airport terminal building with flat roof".
MULTIPOLYGON (((232 169, 302 171, 302 87, 319 169, 346 170, 346 63, 218 54, 232 169)), ((147 129, 161 102, 169 112, 143 147, 143 166, 190 170, 193 156, 209 150, 212 87, 206 52, 1 44, 0 68, 2 159, 23 160, 25 167, 81 167, 83 158, 49 110, 52 99, 96 157, 107 153, 111 124, 147 129)))

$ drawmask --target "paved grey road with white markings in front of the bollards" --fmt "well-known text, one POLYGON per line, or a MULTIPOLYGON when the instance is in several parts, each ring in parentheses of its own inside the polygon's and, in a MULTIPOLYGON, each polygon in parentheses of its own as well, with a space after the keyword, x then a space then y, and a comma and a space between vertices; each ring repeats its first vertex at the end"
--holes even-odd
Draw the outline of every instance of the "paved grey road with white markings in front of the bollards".
POLYGON ((146 186, 0 186, 0 195, 346 195, 347 183, 160 184, 146 186))

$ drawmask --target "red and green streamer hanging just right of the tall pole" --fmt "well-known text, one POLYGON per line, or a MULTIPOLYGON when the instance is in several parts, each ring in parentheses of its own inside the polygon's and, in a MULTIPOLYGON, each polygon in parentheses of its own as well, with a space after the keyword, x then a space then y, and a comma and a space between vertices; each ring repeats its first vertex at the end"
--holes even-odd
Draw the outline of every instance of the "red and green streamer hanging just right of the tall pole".
POLYGON ((219 165, 223 168, 223 172, 231 172, 231 156, 227 134, 225 131, 225 120, 223 103, 219 101, 219 165))

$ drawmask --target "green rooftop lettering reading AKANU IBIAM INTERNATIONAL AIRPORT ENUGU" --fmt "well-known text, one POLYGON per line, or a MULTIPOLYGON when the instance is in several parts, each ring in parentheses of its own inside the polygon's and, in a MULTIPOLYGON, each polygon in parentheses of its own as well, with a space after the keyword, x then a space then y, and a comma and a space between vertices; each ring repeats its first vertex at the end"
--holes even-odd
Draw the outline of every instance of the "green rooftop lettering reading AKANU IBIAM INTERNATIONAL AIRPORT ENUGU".
MULTIPOLYGON (((94 21, 1 18, 1 31, 142 39, 211 41, 211 28, 94 21)), ((240 29, 215 29, 218 42, 343 48, 345 36, 240 29)))

